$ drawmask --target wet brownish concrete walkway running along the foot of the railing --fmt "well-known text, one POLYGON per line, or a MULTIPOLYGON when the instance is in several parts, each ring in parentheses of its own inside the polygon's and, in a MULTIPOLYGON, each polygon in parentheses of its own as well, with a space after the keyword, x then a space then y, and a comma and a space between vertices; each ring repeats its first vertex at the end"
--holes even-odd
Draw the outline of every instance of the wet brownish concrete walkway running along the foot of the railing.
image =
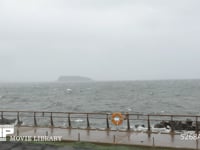
POLYGON ((181 140, 180 134, 172 135, 166 133, 148 134, 145 132, 105 131, 99 129, 16 127, 14 136, 62 136, 62 141, 199 149, 198 140, 181 140))

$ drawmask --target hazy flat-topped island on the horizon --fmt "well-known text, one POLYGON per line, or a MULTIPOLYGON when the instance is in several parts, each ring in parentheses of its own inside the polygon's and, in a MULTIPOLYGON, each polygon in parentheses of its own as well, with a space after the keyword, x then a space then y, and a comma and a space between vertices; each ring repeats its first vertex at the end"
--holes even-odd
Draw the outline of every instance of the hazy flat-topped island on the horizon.
POLYGON ((58 78, 59 82, 91 82, 92 79, 88 77, 82 77, 82 76, 60 76, 58 78))

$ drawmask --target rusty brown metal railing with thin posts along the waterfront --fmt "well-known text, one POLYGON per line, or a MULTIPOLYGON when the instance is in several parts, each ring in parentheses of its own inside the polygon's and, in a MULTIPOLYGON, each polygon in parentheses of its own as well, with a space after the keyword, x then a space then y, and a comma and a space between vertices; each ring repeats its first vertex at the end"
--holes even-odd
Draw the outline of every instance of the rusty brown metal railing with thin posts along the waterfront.
MULTIPOLYGON (((111 130, 114 126, 111 123, 112 113, 89 113, 89 112, 48 112, 48 111, 0 111, 0 124, 9 123, 13 118, 16 121, 17 126, 48 126, 48 127, 60 127, 60 124, 65 122, 66 128, 77 128, 77 124, 82 122, 81 126, 85 129, 91 129, 91 127, 103 127, 105 130, 111 130), (12 118, 12 119, 11 119, 12 118), (46 119, 44 119, 46 118, 46 119), (92 121, 93 120, 93 121, 92 121), (44 122, 46 121, 46 124, 44 122), (74 122, 77 123, 74 123, 74 122), (58 123, 60 123, 58 125, 58 123), (84 125, 83 125, 84 123, 84 125), (76 124, 76 125, 75 125, 76 124)), ((163 114, 132 114, 122 113, 124 116, 123 127, 127 131, 131 131, 132 126, 137 122, 146 124, 147 131, 151 132, 153 123, 159 123, 160 121, 174 121, 184 122, 186 119, 190 119, 194 123, 194 130, 199 134, 200 116, 194 115, 163 115, 163 114)), ((180 124, 181 125, 181 124, 180 124)), ((172 126, 171 132, 174 132, 172 126)))

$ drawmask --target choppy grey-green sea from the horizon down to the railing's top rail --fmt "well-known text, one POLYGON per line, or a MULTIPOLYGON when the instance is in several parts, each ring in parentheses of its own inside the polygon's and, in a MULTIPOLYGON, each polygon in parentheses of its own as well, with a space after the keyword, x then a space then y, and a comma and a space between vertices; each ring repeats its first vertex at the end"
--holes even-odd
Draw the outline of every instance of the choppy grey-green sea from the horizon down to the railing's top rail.
POLYGON ((1 83, 0 110, 200 115, 200 80, 1 83))

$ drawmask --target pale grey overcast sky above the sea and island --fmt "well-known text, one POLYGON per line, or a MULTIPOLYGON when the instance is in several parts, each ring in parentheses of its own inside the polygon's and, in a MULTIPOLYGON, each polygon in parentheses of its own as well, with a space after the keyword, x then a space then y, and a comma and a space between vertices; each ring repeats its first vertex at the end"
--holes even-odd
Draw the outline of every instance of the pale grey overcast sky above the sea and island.
POLYGON ((200 78, 199 0, 1 0, 0 81, 200 78))

